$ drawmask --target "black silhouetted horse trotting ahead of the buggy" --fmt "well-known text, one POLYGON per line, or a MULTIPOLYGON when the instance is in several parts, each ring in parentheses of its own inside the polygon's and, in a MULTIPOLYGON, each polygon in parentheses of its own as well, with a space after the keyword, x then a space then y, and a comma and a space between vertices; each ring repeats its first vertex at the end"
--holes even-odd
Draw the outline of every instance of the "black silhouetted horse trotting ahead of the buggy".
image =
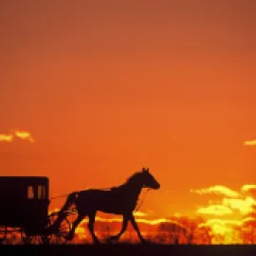
POLYGON ((60 210, 59 217, 54 223, 55 229, 58 229, 64 220, 64 212, 71 206, 75 206, 78 217, 65 237, 66 240, 73 239, 76 228, 82 222, 83 218, 88 216, 88 229, 93 241, 95 244, 100 244, 98 237, 94 233, 95 217, 97 211, 100 210, 106 213, 122 215, 122 228, 118 234, 109 238, 110 241, 119 240, 130 221, 133 228, 137 231, 140 242, 145 243, 146 241, 142 237, 133 215, 133 211, 137 207, 138 196, 143 188, 152 190, 158 190, 160 188, 160 184, 155 180, 155 177, 150 174, 149 169, 145 168, 140 172, 132 174, 125 183, 118 187, 107 190, 88 189, 80 192, 71 192, 68 194, 64 207, 60 210))

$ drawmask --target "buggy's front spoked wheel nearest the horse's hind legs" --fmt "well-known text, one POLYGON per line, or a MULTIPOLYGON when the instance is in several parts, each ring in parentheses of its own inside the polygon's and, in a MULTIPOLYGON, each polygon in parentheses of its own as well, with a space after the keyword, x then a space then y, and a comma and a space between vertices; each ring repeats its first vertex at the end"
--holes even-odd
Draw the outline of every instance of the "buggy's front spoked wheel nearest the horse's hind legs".
MULTIPOLYGON (((48 216, 48 228, 52 227, 57 220, 58 212, 53 212, 48 216)), ((64 218, 58 230, 51 233, 48 237, 48 244, 64 245, 66 244, 66 236, 69 234, 71 225, 67 218, 64 218)))

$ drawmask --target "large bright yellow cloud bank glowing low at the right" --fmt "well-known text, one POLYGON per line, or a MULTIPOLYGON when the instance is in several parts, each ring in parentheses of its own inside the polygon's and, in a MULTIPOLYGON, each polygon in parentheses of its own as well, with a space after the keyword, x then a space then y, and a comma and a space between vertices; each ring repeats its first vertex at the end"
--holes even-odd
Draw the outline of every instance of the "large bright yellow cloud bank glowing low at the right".
POLYGON ((256 200, 253 197, 256 192, 256 185, 246 184, 241 187, 240 192, 229 190, 225 186, 212 186, 207 189, 192 191, 198 194, 219 193, 223 195, 222 201, 208 200, 209 206, 197 209, 198 213, 206 215, 208 220, 200 223, 198 228, 210 228, 213 235, 212 244, 219 244, 218 235, 222 236, 221 243, 244 244, 242 232, 252 225, 255 225, 256 200), (215 204, 215 205, 214 205, 215 204), (232 213, 232 214, 231 214, 232 213), (211 215, 218 215, 218 218, 210 218, 211 215))

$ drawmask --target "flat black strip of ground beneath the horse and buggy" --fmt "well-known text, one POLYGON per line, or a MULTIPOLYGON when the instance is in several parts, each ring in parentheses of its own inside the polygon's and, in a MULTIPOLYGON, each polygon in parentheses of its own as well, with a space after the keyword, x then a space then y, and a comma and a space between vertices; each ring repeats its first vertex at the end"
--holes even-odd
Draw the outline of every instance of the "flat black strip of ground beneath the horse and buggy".
POLYGON ((255 255, 256 246, 68 245, 1 246, 0 256, 147 256, 147 255, 255 255))

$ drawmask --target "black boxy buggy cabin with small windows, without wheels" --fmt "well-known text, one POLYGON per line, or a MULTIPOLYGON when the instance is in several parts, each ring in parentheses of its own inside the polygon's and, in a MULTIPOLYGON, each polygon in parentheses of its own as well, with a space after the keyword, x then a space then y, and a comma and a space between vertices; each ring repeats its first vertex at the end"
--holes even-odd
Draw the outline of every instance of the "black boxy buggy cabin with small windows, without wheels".
POLYGON ((46 227, 49 205, 46 176, 0 176, 0 226, 26 232, 46 227))

